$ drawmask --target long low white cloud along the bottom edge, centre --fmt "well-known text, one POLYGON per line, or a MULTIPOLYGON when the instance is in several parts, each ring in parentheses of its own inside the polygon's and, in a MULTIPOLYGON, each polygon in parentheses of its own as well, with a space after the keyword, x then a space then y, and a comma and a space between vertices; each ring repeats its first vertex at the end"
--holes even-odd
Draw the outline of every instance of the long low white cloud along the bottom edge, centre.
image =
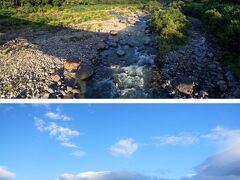
POLYGON ((158 177, 144 176, 127 171, 82 172, 79 174, 62 174, 57 180, 163 180, 158 177))

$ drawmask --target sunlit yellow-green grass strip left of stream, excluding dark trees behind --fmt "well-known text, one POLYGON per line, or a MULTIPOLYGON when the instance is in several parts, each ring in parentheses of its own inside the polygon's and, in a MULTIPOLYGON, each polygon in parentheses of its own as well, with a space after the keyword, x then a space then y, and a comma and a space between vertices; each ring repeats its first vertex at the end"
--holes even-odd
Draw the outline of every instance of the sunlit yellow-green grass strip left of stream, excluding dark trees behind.
POLYGON ((96 4, 96 5, 66 5, 23 6, 18 8, 0 8, 0 33, 16 31, 23 27, 39 27, 42 25, 67 26, 92 20, 108 20, 113 15, 108 10, 116 9, 122 13, 132 13, 140 8, 136 4, 96 4))

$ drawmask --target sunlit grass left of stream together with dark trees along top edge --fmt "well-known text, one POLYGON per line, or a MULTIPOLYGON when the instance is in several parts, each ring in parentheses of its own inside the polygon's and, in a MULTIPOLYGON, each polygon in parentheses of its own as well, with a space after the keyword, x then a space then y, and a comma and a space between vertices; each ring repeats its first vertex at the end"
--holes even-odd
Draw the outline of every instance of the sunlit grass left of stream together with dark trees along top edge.
POLYGON ((0 33, 23 27, 68 26, 114 18, 108 10, 131 14, 159 10, 157 1, 129 0, 4 0, 0 2, 0 33), (157 6, 156 6, 157 5, 157 6))

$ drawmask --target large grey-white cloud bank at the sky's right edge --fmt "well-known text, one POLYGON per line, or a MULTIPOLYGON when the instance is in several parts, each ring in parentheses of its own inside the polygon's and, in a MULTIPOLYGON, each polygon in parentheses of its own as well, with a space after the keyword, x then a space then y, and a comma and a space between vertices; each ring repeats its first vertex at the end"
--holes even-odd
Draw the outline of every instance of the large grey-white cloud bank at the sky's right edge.
POLYGON ((240 179, 240 130, 216 127, 203 138, 219 144, 219 151, 196 167, 196 174, 183 179, 239 180, 240 179))

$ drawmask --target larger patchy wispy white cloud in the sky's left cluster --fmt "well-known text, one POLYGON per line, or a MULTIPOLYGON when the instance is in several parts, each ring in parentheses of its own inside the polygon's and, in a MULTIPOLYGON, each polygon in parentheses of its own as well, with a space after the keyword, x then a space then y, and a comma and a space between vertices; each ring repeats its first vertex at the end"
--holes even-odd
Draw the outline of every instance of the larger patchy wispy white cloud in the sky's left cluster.
POLYGON ((35 126, 39 131, 49 132, 50 136, 56 137, 56 139, 61 142, 69 142, 71 138, 80 135, 80 133, 76 130, 59 126, 54 122, 46 124, 42 119, 37 117, 35 117, 35 126))

